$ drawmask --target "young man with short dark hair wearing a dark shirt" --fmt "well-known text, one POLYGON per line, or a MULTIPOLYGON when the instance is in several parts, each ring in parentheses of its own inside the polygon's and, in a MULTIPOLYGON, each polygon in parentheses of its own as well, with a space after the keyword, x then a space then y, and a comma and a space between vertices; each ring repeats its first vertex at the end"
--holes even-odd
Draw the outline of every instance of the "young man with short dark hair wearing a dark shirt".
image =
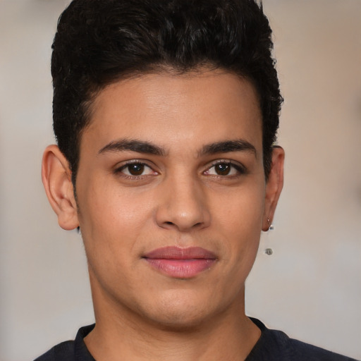
POLYGON ((271 29, 250 0, 75 0, 42 177, 96 324, 44 360, 350 360, 245 315, 283 185, 271 29))

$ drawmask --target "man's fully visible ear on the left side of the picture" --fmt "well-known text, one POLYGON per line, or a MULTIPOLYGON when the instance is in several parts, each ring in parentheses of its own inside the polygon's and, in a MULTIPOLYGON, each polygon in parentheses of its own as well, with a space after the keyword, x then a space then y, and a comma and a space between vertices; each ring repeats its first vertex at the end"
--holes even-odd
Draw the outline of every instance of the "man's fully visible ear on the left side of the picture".
POLYGON ((68 161, 56 145, 49 145, 42 157, 42 183, 61 228, 71 230, 79 226, 71 170, 68 161))

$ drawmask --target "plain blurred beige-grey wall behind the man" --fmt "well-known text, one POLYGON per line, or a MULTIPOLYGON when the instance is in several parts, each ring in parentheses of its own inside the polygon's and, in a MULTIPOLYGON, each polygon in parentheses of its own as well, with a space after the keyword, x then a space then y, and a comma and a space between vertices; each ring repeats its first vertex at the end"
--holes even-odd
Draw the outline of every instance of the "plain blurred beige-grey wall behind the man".
MULTIPOLYGON (((54 142, 50 47, 67 3, 0 0, 1 361, 32 360, 94 321, 81 238, 59 228, 40 178, 54 142)), ((361 1, 264 0, 264 10, 286 172, 247 314, 361 359, 361 1)))

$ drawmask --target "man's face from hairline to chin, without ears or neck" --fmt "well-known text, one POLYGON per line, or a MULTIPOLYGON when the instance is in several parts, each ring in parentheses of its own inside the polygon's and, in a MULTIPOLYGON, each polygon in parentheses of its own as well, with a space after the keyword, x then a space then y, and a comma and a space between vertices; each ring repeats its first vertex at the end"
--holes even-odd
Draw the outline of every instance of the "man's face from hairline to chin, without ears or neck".
POLYGON ((149 74, 92 110, 76 190, 96 314, 183 326, 239 310, 269 209, 254 87, 149 74))

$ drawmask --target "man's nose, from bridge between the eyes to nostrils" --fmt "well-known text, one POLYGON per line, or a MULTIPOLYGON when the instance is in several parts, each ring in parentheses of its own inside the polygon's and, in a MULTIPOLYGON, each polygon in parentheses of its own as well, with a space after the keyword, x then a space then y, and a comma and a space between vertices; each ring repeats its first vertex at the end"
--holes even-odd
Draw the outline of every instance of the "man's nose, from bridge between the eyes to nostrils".
POLYGON ((209 226, 211 216, 202 185, 193 178, 169 178, 161 187, 156 221, 159 227, 192 231, 209 226))

